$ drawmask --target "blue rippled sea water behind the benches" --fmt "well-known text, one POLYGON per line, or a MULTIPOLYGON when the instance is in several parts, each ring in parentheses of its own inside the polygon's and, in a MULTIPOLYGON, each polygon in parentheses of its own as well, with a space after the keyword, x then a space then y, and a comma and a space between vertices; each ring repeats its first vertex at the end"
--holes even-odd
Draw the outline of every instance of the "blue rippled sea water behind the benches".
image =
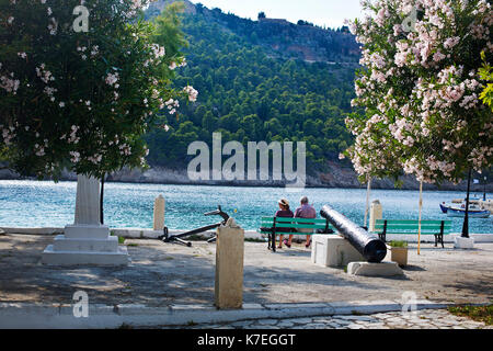
MULTIPOLYGON (((0 227, 64 227, 73 223, 76 189, 76 182, 0 180, 0 227)), ((216 210, 218 204, 243 228, 256 229, 260 216, 274 215, 278 199, 288 199, 294 210, 301 195, 309 197, 318 213, 322 205, 330 204, 363 225, 366 202, 366 189, 307 189, 302 193, 288 193, 283 188, 106 183, 105 224, 118 228, 151 228, 153 202, 159 194, 165 197, 165 225, 172 229, 192 229, 219 222, 220 217, 203 215, 216 210)), ((439 203, 465 195, 463 192, 424 192, 423 219, 447 218, 439 203)), ((490 199, 491 194, 486 196, 490 199)), ((377 199, 382 204, 383 218, 419 216, 417 191, 372 190, 371 201, 377 199)), ((452 231, 461 231, 462 218, 448 219, 452 219, 452 231)), ((493 234, 493 216, 471 218, 470 233, 493 234)))

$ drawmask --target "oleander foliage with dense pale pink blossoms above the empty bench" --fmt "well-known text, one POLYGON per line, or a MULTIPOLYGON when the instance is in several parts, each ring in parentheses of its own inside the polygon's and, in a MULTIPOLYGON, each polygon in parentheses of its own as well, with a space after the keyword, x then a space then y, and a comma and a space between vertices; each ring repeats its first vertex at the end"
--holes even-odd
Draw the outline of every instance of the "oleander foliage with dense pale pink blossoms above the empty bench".
POLYGON ((356 141, 345 154, 363 179, 459 182, 493 159, 493 117, 479 100, 481 52, 491 61, 493 11, 484 0, 363 1, 349 23, 364 66, 346 120, 356 141))

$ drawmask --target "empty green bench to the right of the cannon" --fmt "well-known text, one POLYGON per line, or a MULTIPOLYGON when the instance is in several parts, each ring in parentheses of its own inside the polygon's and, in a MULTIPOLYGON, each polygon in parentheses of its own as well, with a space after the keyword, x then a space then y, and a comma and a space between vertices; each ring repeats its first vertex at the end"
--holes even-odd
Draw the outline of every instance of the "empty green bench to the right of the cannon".
MULTIPOLYGON (((377 219, 375 222, 375 234, 378 234, 380 240, 386 242, 388 234, 397 235, 417 235, 417 219, 377 219)), ((444 235, 449 235, 451 230, 451 220, 421 220, 421 235, 434 235, 435 247, 438 242, 444 248, 444 235)))

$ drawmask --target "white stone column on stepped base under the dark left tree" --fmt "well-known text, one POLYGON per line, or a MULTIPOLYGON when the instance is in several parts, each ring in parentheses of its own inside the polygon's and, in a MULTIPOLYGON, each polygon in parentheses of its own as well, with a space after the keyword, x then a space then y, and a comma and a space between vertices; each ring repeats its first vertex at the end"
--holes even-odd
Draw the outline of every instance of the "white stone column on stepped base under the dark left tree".
POLYGON ((76 219, 65 227, 65 235, 55 238, 42 256, 45 264, 128 264, 126 247, 110 236, 110 228, 100 222, 100 181, 78 176, 76 219))

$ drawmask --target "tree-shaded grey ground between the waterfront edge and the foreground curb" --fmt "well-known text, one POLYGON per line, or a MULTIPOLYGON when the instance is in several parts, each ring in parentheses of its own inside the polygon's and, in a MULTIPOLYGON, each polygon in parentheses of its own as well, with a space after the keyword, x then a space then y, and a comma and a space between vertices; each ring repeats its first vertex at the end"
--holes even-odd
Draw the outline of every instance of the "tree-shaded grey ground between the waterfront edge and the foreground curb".
MULTIPOLYGON (((158 240, 126 240, 129 267, 47 267, 41 253, 53 236, 0 236, 0 302, 70 304, 76 291, 94 304, 211 304, 214 244, 192 248, 158 240)), ((302 245, 272 253, 266 244, 245 242, 244 303, 401 299, 412 291, 434 302, 493 301, 493 244, 474 250, 410 247, 405 278, 349 276, 343 269, 314 265, 302 245)))

